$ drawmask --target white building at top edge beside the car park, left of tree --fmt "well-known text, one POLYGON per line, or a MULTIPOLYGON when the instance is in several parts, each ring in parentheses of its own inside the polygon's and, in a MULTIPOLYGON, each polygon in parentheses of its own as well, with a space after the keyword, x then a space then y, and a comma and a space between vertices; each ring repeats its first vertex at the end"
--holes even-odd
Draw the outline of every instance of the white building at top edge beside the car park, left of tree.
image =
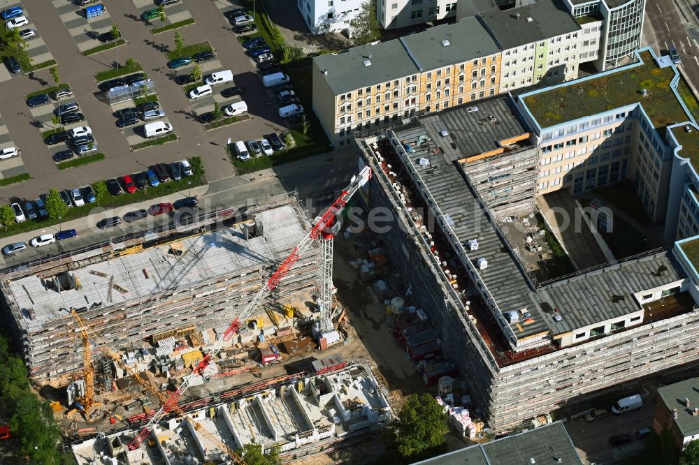
POLYGON ((369 0, 298 0, 298 11, 311 34, 340 32, 361 12, 369 0))

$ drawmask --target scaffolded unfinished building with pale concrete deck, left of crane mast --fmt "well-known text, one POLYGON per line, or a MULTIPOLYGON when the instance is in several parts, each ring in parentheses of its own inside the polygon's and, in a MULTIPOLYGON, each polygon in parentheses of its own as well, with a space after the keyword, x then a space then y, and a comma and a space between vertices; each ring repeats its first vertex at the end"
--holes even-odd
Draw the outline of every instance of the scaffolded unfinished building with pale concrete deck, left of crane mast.
MULTIPOLYGON (((237 223, 230 209, 188 232, 150 233, 3 274, 6 312, 31 378, 50 381, 82 369, 72 310, 111 350, 157 356, 157 346, 168 342, 171 349, 178 337, 210 334, 202 345, 219 338, 310 228, 294 198, 255 209, 237 223)), ((317 288, 318 256, 310 247, 264 305, 308 299, 317 288)), ((231 342, 260 332, 246 323, 231 342)))

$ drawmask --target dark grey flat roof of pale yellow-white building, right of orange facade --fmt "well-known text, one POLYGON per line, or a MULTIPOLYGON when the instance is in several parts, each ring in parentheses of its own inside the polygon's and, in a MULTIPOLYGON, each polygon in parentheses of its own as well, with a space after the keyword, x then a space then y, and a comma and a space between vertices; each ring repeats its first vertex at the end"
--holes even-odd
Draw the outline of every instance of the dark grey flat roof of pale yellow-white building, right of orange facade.
POLYGON ((503 50, 581 29, 561 0, 538 0, 509 10, 485 11, 481 17, 503 50))

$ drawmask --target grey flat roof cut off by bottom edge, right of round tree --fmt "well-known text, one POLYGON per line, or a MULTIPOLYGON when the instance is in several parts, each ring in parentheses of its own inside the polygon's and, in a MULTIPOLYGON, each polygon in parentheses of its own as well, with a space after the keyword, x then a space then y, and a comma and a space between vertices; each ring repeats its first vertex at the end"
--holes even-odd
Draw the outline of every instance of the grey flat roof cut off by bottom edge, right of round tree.
POLYGON ((549 464, 556 463, 558 457, 563 464, 582 464, 560 421, 489 443, 470 445, 415 465, 549 464))

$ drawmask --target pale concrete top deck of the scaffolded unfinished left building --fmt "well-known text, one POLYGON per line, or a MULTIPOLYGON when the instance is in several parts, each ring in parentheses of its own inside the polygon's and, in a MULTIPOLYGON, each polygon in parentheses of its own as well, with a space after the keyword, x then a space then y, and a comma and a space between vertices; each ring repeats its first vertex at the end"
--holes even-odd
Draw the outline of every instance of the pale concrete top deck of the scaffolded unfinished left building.
MULTIPOLYGON (((188 289, 195 283, 223 274, 266 267, 283 260, 305 235, 306 227, 294 207, 284 205, 258 213, 264 237, 245 239, 242 226, 181 239, 182 256, 169 253, 171 244, 75 267, 70 273, 80 288, 57 292, 47 282, 51 276, 29 275, 8 282, 29 332, 41 330, 55 318, 69 317, 65 309, 101 308, 148 297, 171 288, 188 289), (115 287, 118 286, 118 287, 115 287), (29 309, 33 318, 29 318, 29 309)), ((89 260, 86 260, 89 262, 89 260)), ((55 274, 65 274, 64 272, 55 274)))

